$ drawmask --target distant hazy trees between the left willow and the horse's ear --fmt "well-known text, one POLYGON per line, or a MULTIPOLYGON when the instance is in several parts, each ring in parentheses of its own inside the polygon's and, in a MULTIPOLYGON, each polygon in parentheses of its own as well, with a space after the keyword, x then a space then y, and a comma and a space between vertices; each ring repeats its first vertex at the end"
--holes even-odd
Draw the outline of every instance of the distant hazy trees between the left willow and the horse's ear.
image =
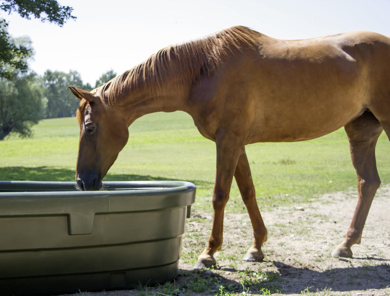
POLYGON ((69 73, 47 70, 43 75, 44 95, 47 98, 46 118, 74 116, 80 102, 68 86, 90 89, 84 85, 77 71, 69 73))

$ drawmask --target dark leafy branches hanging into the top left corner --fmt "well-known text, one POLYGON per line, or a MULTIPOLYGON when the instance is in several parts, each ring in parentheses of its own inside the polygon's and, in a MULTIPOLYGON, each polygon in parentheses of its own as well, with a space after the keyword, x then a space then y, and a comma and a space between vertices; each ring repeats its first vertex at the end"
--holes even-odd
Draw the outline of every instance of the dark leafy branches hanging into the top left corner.
MULTIPOLYGON (((28 20, 33 15, 43 22, 49 21, 60 27, 70 18, 76 18, 71 15, 72 7, 61 6, 55 0, 2 0, 0 9, 8 14, 17 12, 22 18, 28 20)), ((7 21, 0 20, 0 77, 10 78, 14 69, 27 72, 26 58, 32 52, 23 45, 16 46, 12 43, 7 27, 7 21)))

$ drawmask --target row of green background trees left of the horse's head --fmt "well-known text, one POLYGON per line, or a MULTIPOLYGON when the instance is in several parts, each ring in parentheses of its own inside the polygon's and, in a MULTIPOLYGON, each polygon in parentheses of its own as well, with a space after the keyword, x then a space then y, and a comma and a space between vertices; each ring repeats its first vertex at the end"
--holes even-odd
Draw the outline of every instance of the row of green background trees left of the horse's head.
MULTIPOLYGON (((31 43, 26 37, 14 42, 23 46, 31 43)), ((11 132, 31 136, 32 125, 41 119, 74 116, 79 100, 68 86, 92 90, 116 76, 113 70, 107 71, 92 87, 84 84, 80 73, 74 70, 46 70, 42 76, 12 66, 6 70, 7 77, 0 77, 0 140, 11 132)))

